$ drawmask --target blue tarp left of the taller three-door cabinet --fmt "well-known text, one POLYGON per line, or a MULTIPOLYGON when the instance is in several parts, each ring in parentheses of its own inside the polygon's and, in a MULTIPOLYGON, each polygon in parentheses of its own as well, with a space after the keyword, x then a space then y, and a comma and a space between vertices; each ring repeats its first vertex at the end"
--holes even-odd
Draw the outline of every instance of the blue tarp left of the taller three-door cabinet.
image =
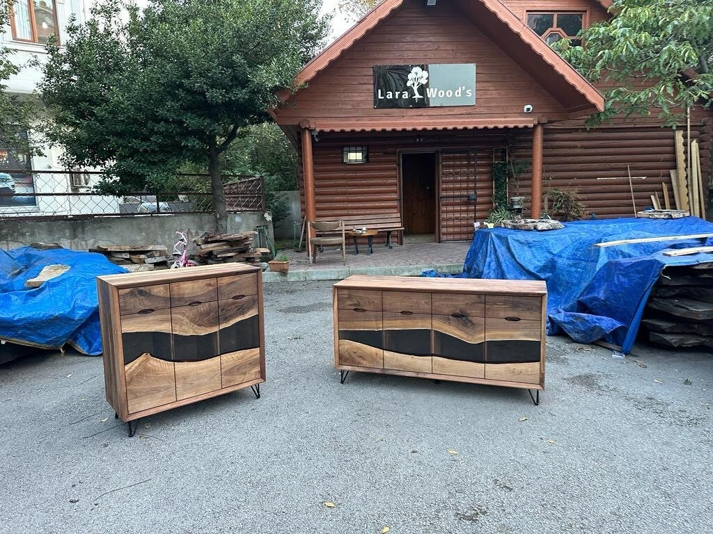
POLYGON ((85 354, 101 354, 96 277, 125 272, 96 253, 29 246, 0 251, 0 338, 47 349, 70 343, 85 354), (56 263, 70 269, 39 288, 25 287, 56 263))

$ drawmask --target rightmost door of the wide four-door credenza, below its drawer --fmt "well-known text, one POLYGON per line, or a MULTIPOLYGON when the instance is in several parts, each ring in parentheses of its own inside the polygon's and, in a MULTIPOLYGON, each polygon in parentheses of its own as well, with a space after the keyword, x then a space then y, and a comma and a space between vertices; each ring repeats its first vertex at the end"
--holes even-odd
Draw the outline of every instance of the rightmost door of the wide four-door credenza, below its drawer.
POLYGON ((486 318, 486 378, 540 384, 542 323, 486 318))

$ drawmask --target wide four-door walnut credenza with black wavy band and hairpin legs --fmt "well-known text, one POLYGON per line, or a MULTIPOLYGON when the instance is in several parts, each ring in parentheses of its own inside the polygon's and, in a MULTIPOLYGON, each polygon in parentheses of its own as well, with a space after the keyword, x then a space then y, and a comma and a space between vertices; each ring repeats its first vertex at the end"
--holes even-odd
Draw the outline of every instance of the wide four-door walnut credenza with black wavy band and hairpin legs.
POLYGON ((545 387, 540 281, 350 276, 333 286, 334 367, 545 387))

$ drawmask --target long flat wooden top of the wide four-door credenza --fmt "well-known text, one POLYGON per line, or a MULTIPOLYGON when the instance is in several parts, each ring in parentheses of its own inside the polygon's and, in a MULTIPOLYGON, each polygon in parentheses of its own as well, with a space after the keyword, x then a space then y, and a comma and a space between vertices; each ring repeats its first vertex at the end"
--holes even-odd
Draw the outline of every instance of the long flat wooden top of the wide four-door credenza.
POLYGON ((334 287, 349 289, 434 291, 437 293, 484 293, 532 296, 547 294, 547 286, 543 281, 489 280, 481 278, 354 275, 335 283, 334 287))

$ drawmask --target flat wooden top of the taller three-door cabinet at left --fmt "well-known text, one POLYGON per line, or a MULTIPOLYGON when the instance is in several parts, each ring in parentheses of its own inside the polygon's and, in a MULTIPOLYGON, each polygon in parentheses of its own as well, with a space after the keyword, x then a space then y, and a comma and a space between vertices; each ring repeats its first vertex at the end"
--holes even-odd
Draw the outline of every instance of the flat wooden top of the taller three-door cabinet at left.
POLYGON ((163 269, 146 273, 125 273, 99 276, 98 279, 115 288, 151 286, 157 283, 181 282, 210 278, 212 276, 234 276, 237 274, 257 273, 260 267, 244 263, 222 263, 220 265, 202 265, 180 269, 163 269))

